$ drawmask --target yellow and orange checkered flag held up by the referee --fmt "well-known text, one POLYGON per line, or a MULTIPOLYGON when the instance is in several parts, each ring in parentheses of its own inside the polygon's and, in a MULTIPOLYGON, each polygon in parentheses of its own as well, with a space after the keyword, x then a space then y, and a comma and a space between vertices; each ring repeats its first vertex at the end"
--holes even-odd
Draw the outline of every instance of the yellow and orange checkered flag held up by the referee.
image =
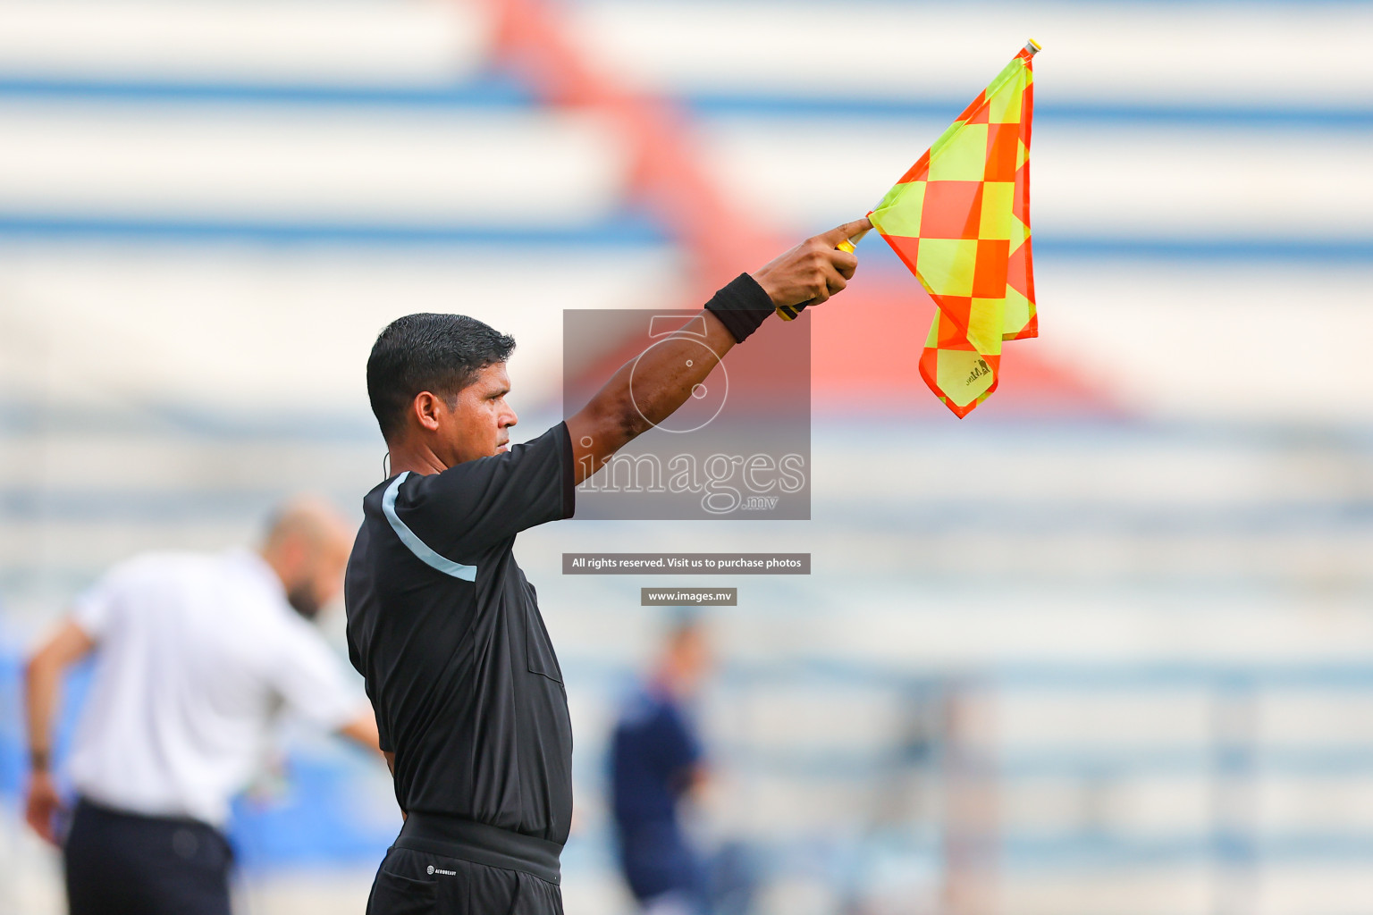
POLYGON ((1030 266, 1032 40, 869 218, 935 300, 925 384, 960 418, 997 390, 1001 342, 1038 336, 1030 266))

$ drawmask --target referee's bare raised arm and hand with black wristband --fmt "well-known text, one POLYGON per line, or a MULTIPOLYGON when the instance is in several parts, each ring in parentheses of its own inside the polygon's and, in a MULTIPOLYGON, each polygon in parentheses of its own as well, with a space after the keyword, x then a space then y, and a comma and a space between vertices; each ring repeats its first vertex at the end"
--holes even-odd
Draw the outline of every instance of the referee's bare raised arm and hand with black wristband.
POLYGON ((700 326, 704 321, 706 346, 714 359, 700 359, 700 335, 684 329, 622 366, 567 420, 577 482, 671 416, 686 402, 692 388, 714 370, 719 358, 736 343, 743 343, 778 307, 820 305, 840 292, 853 278, 858 258, 835 246, 870 228, 865 217, 806 239, 761 270, 741 273, 715 294, 688 325, 700 326))

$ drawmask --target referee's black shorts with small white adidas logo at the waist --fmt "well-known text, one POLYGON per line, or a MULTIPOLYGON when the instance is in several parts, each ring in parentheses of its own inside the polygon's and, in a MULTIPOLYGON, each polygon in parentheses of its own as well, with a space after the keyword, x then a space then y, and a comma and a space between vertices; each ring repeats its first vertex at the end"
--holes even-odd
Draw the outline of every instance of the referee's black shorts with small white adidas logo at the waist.
POLYGON ((523 871, 391 848, 367 915, 563 915, 557 883, 523 871))

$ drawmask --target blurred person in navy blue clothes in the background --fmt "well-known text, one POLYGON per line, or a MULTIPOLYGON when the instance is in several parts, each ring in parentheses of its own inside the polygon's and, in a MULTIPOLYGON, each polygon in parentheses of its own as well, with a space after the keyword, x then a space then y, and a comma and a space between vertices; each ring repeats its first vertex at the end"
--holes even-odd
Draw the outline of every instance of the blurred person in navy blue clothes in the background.
POLYGON ((710 672, 710 646, 695 616, 681 616, 652 674, 615 724, 610 781, 619 860, 630 892, 655 915, 708 911, 706 863, 682 831, 678 804, 706 779, 689 705, 710 672))

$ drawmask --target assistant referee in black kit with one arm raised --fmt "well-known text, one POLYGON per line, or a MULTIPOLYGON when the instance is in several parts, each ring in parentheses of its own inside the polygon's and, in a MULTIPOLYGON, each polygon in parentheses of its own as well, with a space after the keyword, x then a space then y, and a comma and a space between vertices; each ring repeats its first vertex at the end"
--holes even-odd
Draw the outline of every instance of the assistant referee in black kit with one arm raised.
MULTIPOLYGON (((835 248, 868 219, 740 274, 693 318, 722 357, 780 306, 825 302, 857 268, 835 248)), ((349 652, 367 680, 406 820, 369 915, 563 911, 573 733, 520 531, 573 516, 574 490, 704 381, 696 333, 621 368, 574 417, 509 447, 515 340, 474 318, 411 314, 367 362, 394 476, 362 499, 347 565, 349 652), (630 391, 630 372, 634 384, 630 391)))

